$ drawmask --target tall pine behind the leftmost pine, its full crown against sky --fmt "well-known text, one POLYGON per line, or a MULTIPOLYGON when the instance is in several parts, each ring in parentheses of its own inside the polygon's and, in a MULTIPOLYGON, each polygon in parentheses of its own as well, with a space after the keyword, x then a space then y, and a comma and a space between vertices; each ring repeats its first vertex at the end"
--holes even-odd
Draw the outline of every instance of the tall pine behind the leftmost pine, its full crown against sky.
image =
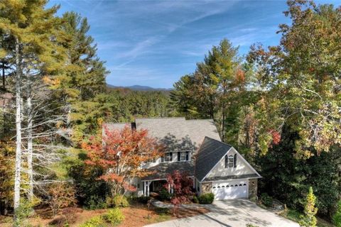
POLYGON ((97 57, 94 39, 87 34, 90 30, 87 18, 67 12, 62 20, 63 31, 70 35, 67 43, 68 64, 65 66, 66 73, 58 77, 60 83, 56 91, 60 92, 60 99, 66 106, 65 112, 69 115, 70 140, 77 143, 85 135, 95 133, 99 127, 100 121, 97 120, 104 115, 102 109, 106 107, 95 99, 105 92, 105 77, 109 72, 97 57), (65 96, 67 99, 63 99, 65 96))

